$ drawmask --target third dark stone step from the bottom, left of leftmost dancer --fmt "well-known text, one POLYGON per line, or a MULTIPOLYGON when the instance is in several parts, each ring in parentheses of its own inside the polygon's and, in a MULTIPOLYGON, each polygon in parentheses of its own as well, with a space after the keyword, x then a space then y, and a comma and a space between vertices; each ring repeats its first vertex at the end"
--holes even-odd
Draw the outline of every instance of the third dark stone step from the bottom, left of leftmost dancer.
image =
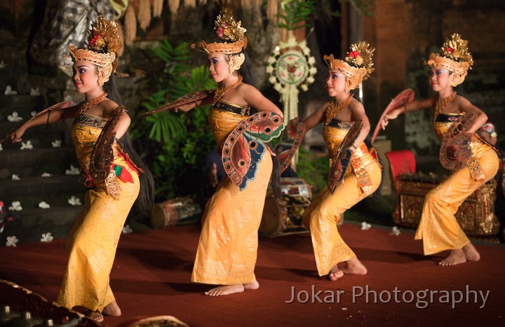
POLYGON ((32 150, 19 150, 19 148, 6 148, 7 146, 20 146, 9 143, 10 141, 4 142, 6 146, 3 146, 4 150, 0 151, 0 180, 11 179, 12 174, 17 174, 21 179, 29 176, 41 176, 44 172, 65 175, 65 171, 70 169, 70 165, 79 167, 73 147, 34 147, 32 150))

